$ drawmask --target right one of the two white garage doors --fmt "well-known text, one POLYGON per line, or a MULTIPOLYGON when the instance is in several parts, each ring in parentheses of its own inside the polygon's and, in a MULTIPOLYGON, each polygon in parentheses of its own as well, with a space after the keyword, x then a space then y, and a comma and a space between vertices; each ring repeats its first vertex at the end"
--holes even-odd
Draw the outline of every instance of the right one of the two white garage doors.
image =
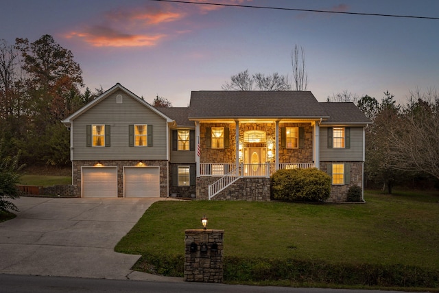
POLYGON ((125 167, 126 198, 158 198, 160 197, 159 167, 125 167))

